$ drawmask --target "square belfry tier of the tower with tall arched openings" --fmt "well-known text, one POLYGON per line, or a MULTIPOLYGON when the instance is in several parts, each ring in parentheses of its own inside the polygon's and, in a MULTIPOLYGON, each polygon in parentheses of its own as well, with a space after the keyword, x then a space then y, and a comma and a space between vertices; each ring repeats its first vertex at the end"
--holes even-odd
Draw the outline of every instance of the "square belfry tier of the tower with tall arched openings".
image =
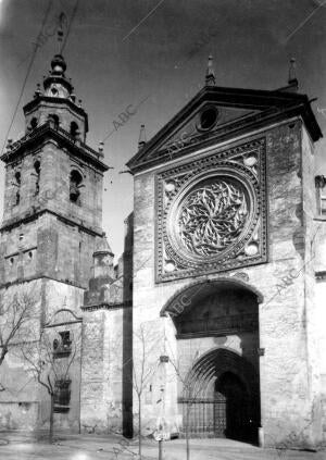
POLYGON ((45 208, 101 234, 102 174, 90 163, 71 156, 53 140, 46 140, 33 153, 28 152, 15 163, 7 165, 2 225, 45 208), (36 194, 34 167, 37 160, 40 162, 39 194, 36 194), (68 198, 72 170, 77 170, 83 176, 80 204, 71 202, 68 198), (21 172, 20 187, 15 181, 17 171, 21 172), (21 195, 18 204, 17 189, 21 195))

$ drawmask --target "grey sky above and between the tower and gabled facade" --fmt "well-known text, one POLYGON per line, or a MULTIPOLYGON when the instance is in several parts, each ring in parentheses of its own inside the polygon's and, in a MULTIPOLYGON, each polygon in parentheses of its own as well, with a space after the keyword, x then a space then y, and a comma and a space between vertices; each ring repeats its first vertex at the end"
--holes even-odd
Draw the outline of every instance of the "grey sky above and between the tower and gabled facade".
MULTIPOLYGON (((317 97, 313 108, 326 127, 326 2, 324 0, 0 0, 0 144, 24 133, 22 107, 50 69, 55 35, 38 47, 16 115, 34 45, 48 9, 45 30, 63 12, 71 21, 63 55, 77 98, 89 115, 87 142, 105 140, 103 228, 118 256, 123 221, 133 209, 133 177, 118 174, 136 152, 139 126, 152 137, 204 82, 209 53, 216 84, 275 89, 287 84, 297 59, 300 91, 317 97), (75 14, 73 14, 75 11, 75 14), (147 99, 146 99, 147 98, 147 99), (118 114, 142 102, 124 126, 118 114), (324 113, 322 112, 324 109, 324 113), (9 127, 12 124, 10 133, 9 127)), ((317 144, 317 173, 325 140, 317 144)), ((3 166, 0 166, 2 213, 3 166)))

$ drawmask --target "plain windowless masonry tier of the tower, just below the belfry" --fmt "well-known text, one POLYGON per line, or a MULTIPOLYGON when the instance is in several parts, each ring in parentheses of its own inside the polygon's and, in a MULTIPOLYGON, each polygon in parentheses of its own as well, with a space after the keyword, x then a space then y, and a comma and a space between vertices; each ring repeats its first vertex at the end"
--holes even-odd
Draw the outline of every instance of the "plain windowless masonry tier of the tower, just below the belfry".
POLYGON ((52 214, 2 232, 0 284, 49 276, 87 287, 99 238, 52 214))

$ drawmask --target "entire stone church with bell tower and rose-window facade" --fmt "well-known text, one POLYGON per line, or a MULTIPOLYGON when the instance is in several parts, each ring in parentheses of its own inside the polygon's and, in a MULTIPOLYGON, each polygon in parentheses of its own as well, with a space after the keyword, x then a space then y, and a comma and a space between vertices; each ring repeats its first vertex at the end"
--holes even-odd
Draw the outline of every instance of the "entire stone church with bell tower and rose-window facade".
MULTIPOLYGON (((240 89, 216 86, 210 58, 202 89, 149 141, 141 128, 117 263, 101 223, 103 146, 86 144, 62 55, 24 115, 1 158, 0 294, 39 293, 35 327, 60 337, 51 353, 80 333, 55 383, 55 427, 131 436, 141 409, 148 435, 321 446, 326 179, 293 63, 286 87, 240 89)), ((0 426, 46 428, 48 395, 16 346, 0 368, 0 426)))

